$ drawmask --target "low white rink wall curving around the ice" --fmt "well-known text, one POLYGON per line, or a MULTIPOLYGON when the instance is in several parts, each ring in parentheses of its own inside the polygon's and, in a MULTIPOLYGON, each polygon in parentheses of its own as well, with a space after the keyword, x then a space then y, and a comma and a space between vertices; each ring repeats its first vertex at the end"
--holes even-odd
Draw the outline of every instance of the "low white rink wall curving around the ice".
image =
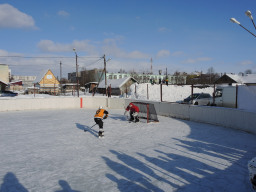
MULTIPOLYGON (((0 100, 0 111, 39 109, 124 109, 130 102, 140 101, 106 97, 56 97, 0 100)), ((141 100, 141 102, 146 102, 141 100)), ((256 134, 256 113, 238 109, 183 105, 169 102, 153 102, 158 115, 191 120, 243 130, 256 134)))

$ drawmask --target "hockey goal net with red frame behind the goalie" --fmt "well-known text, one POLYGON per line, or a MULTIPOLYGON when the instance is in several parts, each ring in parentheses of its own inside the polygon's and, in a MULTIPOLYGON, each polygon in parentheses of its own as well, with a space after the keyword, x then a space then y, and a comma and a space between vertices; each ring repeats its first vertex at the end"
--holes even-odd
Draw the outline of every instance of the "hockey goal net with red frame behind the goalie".
POLYGON ((147 123, 149 122, 159 122, 157 118, 157 113, 154 104, 152 103, 143 103, 143 102, 132 102, 134 105, 139 107, 139 118, 146 119, 147 123))

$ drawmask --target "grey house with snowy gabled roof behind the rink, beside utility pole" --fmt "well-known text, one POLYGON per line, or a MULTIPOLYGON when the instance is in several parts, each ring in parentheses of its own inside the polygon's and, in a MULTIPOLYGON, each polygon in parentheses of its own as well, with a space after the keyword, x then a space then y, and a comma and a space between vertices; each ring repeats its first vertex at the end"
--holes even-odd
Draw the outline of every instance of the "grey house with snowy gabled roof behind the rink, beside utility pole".
MULTIPOLYGON (((133 77, 126 77, 122 79, 108 79, 107 88, 111 87, 112 95, 123 95, 124 93, 130 92, 130 86, 134 83, 138 83, 133 77)), ((106 93, 105 80, 101 81, 98 86, 98 93, 106 93)))

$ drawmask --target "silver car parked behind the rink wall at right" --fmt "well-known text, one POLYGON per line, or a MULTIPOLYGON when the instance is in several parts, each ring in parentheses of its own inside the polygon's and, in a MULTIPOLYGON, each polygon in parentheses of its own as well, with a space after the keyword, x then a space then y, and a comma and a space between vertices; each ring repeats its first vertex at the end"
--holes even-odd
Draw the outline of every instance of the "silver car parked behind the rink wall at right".
POLYGON ((188 96, 183 100, 182 103, 193 104, 193 105, 210 105, 212 96, 209 93, 194 93, 191 97, 188 96))

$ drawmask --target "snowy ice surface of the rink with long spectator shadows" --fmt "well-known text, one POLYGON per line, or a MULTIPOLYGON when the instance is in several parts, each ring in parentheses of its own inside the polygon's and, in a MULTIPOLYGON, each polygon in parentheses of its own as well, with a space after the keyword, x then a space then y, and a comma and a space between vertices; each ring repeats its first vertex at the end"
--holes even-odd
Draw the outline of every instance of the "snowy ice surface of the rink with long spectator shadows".
POLYGON ((255 135, 167 117, 134 124, 109 112, 103 139, 89 129, 95 110, 1 112, 0 191, 251 191, 255 135))

